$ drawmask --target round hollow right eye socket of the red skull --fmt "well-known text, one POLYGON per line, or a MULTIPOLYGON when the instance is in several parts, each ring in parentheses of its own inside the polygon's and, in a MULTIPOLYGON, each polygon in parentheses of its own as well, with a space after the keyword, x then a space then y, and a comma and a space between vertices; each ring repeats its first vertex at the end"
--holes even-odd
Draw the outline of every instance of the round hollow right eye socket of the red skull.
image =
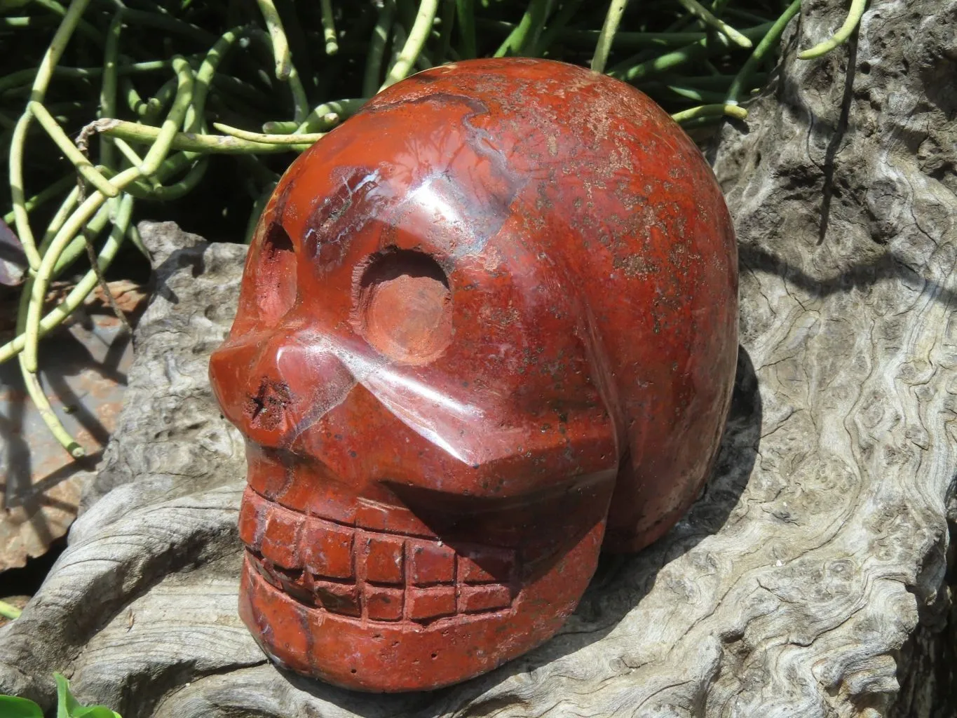
POLYGON ((421 252, 372 258, 359 280, 359 332, 383 356, 427 364, 452 342, 452 292, 438 263, 421 252))

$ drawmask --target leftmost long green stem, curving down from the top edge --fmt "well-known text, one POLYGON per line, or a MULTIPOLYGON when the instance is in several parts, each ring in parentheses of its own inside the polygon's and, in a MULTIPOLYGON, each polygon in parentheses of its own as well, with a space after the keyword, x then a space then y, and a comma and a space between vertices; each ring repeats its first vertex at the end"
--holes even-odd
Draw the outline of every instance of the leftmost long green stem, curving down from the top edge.
MULTIPOLYGON (((39 67, 36 70, 36 77, 33 79, 33 88, 30 91, 31 101, 42 102, 46 94, 47 87, 50 85, 50 79, 53 77, 53 69, 59 62, 60 56, 66 50, 66 45, 70 37, 77 29, 80 16, 86 10, 90 0, 73 0, 70 3, 70 9, 66 11, 63 20, 56 29, 54 39, 51 41, 47 51, 40 60, 39 67)), ((23 150, 27 139, 27 130, 30 129, 30 123, 33 120, 33 112, 28 108, 16 126, 13 128, 10 149, 10 191, 13 203, 13 219, 16 224, 16 233, 23 244, 23 251, 27 256, 30 267, 35 270, 40 265, 40 256, 36 252, 36 242, 33 238, 33 231, 30 229, 30 217, 27 214, 26 204, 24 202, 23 189, 23 150)))

